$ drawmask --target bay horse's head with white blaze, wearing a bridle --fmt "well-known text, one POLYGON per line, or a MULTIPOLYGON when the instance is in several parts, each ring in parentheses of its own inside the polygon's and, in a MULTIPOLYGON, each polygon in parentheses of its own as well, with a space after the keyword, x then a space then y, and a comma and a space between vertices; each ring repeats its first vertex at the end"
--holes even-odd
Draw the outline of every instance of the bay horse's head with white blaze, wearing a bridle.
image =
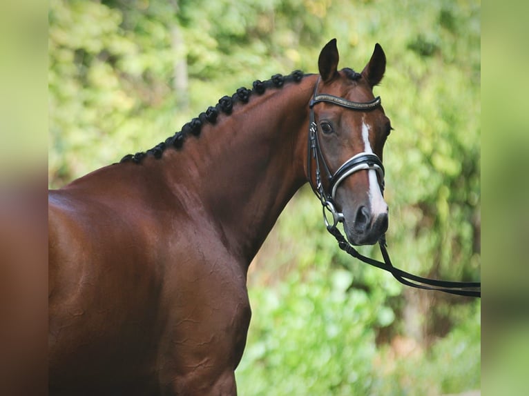
POLYGON ((333 39, 318 59, 320 78, 311 101, 309 144, 314 150, 309 155, 309 179, 324 208, 331 210, 334 226, 342 221, 352 244, 375 244, 388 224, 382 156, 392 127, 380 98, 373 95, 386 59, 378 44, 361 73, 338 70, 338 59, 333 39))

